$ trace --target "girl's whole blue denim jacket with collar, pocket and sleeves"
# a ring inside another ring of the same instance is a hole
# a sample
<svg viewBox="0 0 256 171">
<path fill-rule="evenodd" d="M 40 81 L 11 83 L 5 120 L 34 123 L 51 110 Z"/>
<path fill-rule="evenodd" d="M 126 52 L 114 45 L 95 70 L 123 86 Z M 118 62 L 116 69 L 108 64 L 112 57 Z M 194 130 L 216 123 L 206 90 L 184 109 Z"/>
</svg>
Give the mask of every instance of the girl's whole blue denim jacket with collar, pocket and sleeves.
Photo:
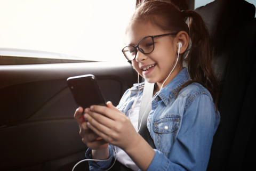
<svg viewBox="0 0 256 171">
<path fill-rule="evenodd" d="M 198 83 L 192 83 L 177 91 L 189 80 L 186 68 L 154 96 L 147 127 L 154 140 L 155 156 L 148 170 L 206 170 L 210 158 L 213 135 L 219 125 L 219 112 L 214 110 L 212 96 Z M 139 96 L 142 95 L 143 85 Z M 117 109 L 126 113 L 138 93 L 138 84 L 128 89 Z M 218 116 L 218 117 L 217 117 Z M 132 137 L 131 137 L 132 138 Z M 91 150 L 86 157 L 90 158 Z M 110 167 L 113 152 L 109 146 L 109 160 L 97 164 L 89 161 L 90 170 L 106 170 Z M 103 168 L 103 169 L 101 169 Z"/>
</svg>

